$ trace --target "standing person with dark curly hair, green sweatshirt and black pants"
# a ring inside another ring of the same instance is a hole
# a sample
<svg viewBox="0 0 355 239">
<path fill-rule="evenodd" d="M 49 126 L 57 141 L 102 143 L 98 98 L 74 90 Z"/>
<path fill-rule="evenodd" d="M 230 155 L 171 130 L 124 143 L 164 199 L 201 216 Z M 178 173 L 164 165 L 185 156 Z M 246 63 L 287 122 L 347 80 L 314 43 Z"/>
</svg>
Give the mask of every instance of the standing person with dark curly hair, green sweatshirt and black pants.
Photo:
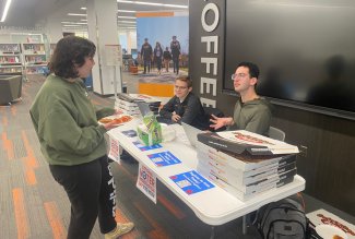
<svg viewBox="0 0 355 239">
<path fill-rule="evenodd" d="M 82 80 L 95 64 L 95 45 L 85 38 L 60 39 L 50 59 L 51 74 L 29 110 L 50 172 L 71 203 L 69 239 L 90 238 L 97 216 L 106 239 L 133 228 L 132 223 L 115 220 L 116 186 L 104 139 L 115 122 L 97 123 L 115 110 L 95 110 Z"/>
</svg>

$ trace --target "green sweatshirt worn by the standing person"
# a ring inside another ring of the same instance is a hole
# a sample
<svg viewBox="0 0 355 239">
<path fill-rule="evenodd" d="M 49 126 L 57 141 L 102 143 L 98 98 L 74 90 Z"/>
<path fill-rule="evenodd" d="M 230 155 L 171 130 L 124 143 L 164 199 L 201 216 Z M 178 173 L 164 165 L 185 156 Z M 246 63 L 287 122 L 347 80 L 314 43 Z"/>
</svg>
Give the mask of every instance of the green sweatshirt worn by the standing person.
<svg viewBox="0 0 355 239">
<path fill-rule="evenodd" d="M 49 75 L 39 89 L 29 115 L 50 165 L 80 165 L 104 156 L 106 129 L 97 119 L 114 109 L 95 110 L 81 79 L 69 82 Z"/>
</svg>

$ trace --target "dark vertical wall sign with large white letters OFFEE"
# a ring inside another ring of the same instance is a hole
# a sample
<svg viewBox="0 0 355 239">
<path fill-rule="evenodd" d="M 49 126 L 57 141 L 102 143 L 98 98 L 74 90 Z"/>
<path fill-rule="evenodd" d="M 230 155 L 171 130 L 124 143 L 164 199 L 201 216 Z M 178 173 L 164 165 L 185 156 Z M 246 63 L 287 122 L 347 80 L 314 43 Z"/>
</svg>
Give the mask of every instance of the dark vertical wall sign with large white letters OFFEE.
<svg viewBox="0 0 355 239">
<path fill-rule="evenodd" d="M 225 0 L 190 1 L 190 76 L 205 106 L 216 107 L 224 77 Z"/>
</svg>

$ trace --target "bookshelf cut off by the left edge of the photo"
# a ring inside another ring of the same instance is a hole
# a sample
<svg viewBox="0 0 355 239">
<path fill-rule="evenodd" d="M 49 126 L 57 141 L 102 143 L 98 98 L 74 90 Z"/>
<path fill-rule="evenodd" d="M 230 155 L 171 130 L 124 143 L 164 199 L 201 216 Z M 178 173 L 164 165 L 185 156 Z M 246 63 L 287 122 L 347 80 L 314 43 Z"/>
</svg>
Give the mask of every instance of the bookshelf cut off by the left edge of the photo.
<svg viewBox="0 0 355 239">
<path fill-rule="evenodd" d="M 22 75 L 20 44 L 0 44 L 0 75 Z"/>
</svg>

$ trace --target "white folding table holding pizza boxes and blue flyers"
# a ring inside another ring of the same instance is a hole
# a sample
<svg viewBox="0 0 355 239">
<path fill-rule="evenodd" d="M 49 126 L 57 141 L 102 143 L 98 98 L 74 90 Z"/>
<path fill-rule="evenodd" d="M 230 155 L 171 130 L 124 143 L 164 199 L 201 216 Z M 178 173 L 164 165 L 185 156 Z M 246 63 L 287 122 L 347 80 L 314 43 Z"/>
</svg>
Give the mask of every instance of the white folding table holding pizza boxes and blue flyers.
<svg viewBox="0 0 355 239">
<path fill-rule="evenodd" d="M 163 182 L 169 190 L 171 190 L 171 192 L 174 192 L 180 200 L 182 200 L 202 222 L 211 226 L 222 225 L 233 219 L 242 217 L 268 203 L 287 198 L 305 189 L 305 179 L 296 175 L 293 182 L 265 191 L 245 202 L 233 196 L 218 186 L 198 193 L 187 194 L 169 178 L 174 175 L 197 169 L 197 151 L 189 144 L 182 127 L 179 124 L 171 126 L 176 130 L 177 136 L 171 142 L 162 143 L 162 148 L 141 152 L 132 143 L 133 141 L 137 141 L 138 138 L 135 138 L 135 140 L 132 140 L 131 138 L 128 138 L 121 133 L 126 130 L 135 130 L 138 123 L 139 119 L 133 119 L 125 126 L 120 126 L 116 129 L 110 130 L 108 132 L 108 135 L 117 140 L 120 146 L 125 148 L 130 155 L 132 155 L 140 164 L 149 167 L 156 175 L 156 178 L 161 182 Z M 147 154 L 163 151 L 171 152 L 181 160 L 181 164 L 157 167 L 146 156 Z"/>
</svg>

